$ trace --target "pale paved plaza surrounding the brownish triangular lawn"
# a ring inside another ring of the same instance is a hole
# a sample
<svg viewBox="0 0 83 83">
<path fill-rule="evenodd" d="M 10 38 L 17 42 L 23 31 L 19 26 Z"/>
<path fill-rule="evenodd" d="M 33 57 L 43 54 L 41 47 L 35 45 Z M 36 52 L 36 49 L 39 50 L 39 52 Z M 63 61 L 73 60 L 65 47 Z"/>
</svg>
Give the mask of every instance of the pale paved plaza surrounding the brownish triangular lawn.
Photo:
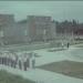
<svg viewBox="0 0 83 83">
<path fill-rule="evenodd" d="M 49 50 L 50 49 L 42 49 L 42 50 L 33 51 L 39 55 L 35 58 L 35 66 L 40 66 L 40 65 L 44 65 L 58 61 L 64 61 L 64 60 L 83 62 L 83 58 L 82 58 L 83 51 L 80 48 L 71 46 L 70 49 L 65 49 L 63 51 L 54 51 L 54 52 L 50 52 Z M 20 53 L 22 54 L 23 52 L 19 52 L 18 54 Z M 62 82 L 83 83 L 82 79 L 75 79 L 75 77 L 58 74 L 38 68 L 35 69 L 30 68 L 28 69 L 28 71 L 23 71 L 23 70 L 13 69 L 11 66 L 6 66 L 1 64 L 0 69 L 6 70 L 12 74 L 21 75 L 31 81 L 35 81 L 37 83 L 62 83 Z"/>
</svg>

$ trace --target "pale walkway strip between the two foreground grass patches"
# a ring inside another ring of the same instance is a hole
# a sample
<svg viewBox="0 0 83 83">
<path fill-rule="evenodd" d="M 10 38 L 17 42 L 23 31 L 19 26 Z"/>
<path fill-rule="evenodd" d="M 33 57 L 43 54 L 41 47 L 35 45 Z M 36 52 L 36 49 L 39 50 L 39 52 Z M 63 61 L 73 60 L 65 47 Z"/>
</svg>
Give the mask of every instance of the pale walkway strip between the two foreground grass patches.
<svg viewBox="0 0 83 83">
<path fill-rule="evenodd" d="M 50 71 L 39 70 L 39 69 L 20 71 L 18 69 L 12 69 L 3 65 L 0 65 L 0 69 L 4 69 L 6 71 L 12 74 L 21 75 L 24 79 L 34 81 L 35 83 L 83 83 L 83 80 L 80 79 L 74 79 L 74 77 L 70 77 Z"/>
</svg>

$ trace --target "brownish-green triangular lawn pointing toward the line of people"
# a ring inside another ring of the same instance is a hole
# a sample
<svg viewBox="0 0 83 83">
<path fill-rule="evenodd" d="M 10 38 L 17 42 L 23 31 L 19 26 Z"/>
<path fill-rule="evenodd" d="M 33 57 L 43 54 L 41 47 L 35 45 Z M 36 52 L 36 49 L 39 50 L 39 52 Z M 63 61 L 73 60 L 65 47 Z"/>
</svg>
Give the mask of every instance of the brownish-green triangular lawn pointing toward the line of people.
<svg viewBox="0 0 83 83">
<path fill-rule="evenodd" d="M 77 79 L 83 79 L 83 62 L 60 61 L 38 68 Z"/>
</svg>

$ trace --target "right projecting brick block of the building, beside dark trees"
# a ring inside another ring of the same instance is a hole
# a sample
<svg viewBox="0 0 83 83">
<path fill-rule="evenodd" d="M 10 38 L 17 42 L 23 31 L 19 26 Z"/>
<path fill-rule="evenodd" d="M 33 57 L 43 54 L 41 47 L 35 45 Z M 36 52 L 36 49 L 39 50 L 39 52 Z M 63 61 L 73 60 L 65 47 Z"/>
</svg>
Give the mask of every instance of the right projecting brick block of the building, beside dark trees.
<svg viewBox="0 0 83 83">
<path fill-rule="evenodd" d="M 52 24 L 51 17 L 28 17 L 29 38 L 33 41 L 43 41 L 52 39 L 52 29 L 55 28 Z"/>
</svg>

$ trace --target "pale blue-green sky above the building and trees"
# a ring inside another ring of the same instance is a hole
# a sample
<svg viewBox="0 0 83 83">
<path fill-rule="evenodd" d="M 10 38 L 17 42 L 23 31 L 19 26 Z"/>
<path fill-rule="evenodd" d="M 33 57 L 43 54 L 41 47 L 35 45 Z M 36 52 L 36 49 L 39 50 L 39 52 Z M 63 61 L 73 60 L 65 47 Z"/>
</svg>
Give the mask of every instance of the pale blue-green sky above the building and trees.
<svg viewBox="0 0 83 83">
<path fill-rule="evenodd" d="M 83 22 L 83 1 L 0 1 L 0 13 L 12 13 L 15 20 L 27 15 L 50 15 L 54 20 Z"/>
</svg>

